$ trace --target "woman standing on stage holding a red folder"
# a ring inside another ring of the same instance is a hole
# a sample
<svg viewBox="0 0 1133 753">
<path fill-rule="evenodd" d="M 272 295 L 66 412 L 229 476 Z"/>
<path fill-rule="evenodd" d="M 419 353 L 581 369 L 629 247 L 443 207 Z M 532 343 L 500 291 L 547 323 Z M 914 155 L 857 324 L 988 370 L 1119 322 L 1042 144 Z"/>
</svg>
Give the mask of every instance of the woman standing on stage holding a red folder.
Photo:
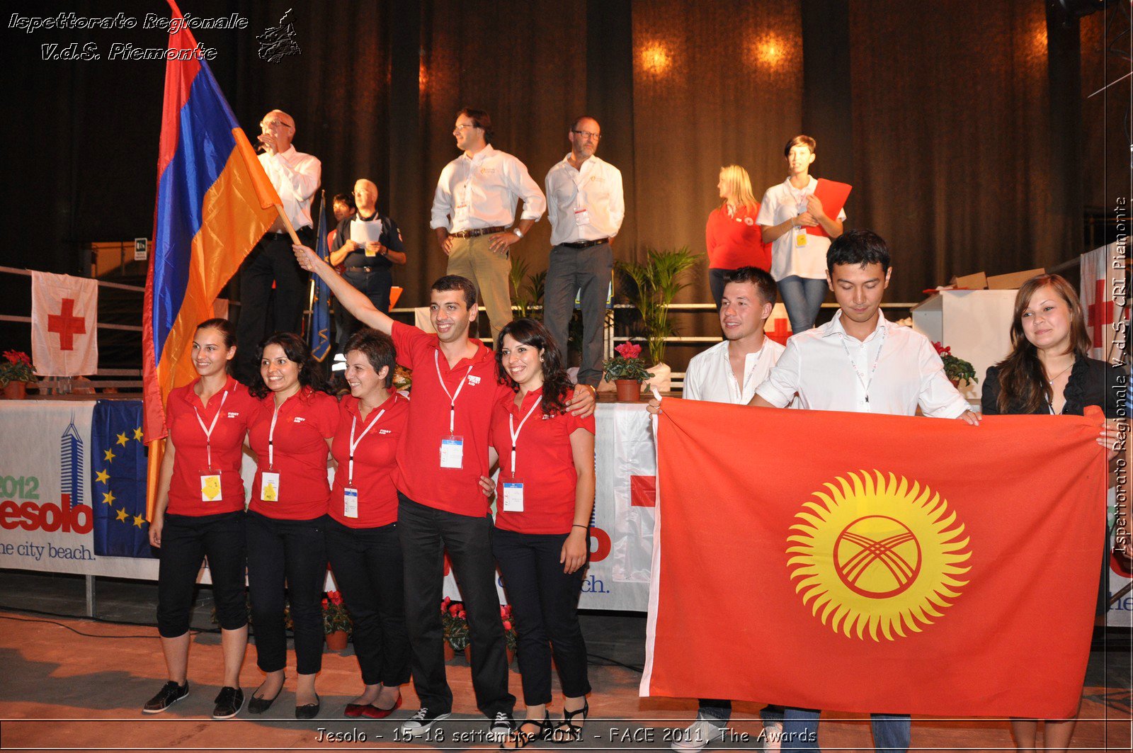
<svg viewBox="0 0 1133 753">
<path fill-rule="evenodd" d="M 826 297 L 826 249 L 832 238 L 842 235 L 846 219 L 841 206 L 837 217 L 828 217 L 816 195 L 818 180 L 810 176 L 815 147 L 815 139 L 804 135 L 786 143 L 787 178 L 767 189 L 756 217 L 764 242 L 772 243 L 769 271 L 778 284 L 791 331 L 796 333 L 815 325 Z M 808 228 L 821 228 L 825 235 L 808 232 Z"/>
</svg>

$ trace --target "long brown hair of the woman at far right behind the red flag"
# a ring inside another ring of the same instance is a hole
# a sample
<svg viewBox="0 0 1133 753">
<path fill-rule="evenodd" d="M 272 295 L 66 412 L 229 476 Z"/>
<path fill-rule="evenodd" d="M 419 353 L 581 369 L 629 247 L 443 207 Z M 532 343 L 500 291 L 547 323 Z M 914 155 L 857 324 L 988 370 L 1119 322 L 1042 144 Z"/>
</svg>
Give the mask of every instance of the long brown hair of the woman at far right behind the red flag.
<svg viewBox="0 0 1133 753">
<path fill-rule="evenodd" d="M 1039 274 L 1032 277 L 1019 288 L 1015 296 L 1015 312 L 1011 320 L 1011 354 L 999 362 L 999 413 L 1022 411 L 1034 413 L 1050 403 L 1054 395 L 1050 382 L 1042 371 L 1038 348 L 1026 339 L 1023 331 L 1023 312 L 1042 287 L 1055 289 L 1070 307 L 1070 352 L 1075 362 L 1087 357 L 1090 352 L 1090 333 L 1085 329 L 1085 318 L 1082 315 L 1082 304 L 1073 286 L 1058 274 Z"/>
</svg>

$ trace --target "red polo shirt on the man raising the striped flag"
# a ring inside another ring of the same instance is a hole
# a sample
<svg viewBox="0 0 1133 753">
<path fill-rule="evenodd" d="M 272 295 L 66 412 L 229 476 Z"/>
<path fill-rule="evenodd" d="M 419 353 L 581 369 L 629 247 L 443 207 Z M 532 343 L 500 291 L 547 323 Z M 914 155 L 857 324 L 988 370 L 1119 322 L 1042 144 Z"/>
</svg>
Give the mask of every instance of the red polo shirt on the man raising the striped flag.
<svg viewBox="0 0 1133 753">
<path fill-rule="evenodd" d="M 476 355 L 449 369 L 436 335 L 401 322 L 393 323 L 391 335 L 398 363 L 414 370 L 414 399 L 409 401 L 404 439 L 398 446 L 394 484 L 426 507 L 476 517 L 487 515 L 488 499 L 480 490 L 479 477 L 488 475 L 488 422 L 501 390 L 511 394 L 496 381 L 495 355 L 475 340 Z M 455 396 L 457 406 L 452 430 L 449 395 Z M 460 468 L 441 467 L 441 440 L 450 434 L 463 439 Z"/>
</svg>

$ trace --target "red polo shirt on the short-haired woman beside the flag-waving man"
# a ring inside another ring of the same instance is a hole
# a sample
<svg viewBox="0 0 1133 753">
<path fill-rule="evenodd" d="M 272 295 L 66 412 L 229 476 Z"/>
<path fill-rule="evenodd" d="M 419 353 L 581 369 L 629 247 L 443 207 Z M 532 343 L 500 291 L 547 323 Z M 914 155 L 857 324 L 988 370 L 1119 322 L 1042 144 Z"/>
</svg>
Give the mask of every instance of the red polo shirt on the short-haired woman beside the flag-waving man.
<svg viewBox="0 0 1133 753">
<path fill-rule="evenodd" d="M 394 392 L 365 418 L 358 413 L 358 398 L 350 395 L 339 403 L 339 426 L 331 443 L 331 455 L 339 464 L 331 489 L 331 517 L 351 528 L 376 528 L 398 519 L 398 490 L 393 485 L 393 473 L 398 467 L 398 443 L 409 417 L 409 400 Z M 352 482 L 351 425 L 357 442 Z M 358 492 L 358 517 L 346 515 L 342 492 L 348 484 Z"/>
</svg>

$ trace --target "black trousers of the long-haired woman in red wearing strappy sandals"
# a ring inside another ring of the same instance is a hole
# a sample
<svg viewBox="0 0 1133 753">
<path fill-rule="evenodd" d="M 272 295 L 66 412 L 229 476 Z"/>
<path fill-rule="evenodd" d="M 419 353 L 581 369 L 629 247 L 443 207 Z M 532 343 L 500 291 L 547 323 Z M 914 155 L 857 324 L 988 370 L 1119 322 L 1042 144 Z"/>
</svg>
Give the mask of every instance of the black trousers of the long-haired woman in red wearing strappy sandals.
<svg viewBox="0 0 1133 753">
<path fill-rule="evenodd" d="M 551 702 L 551 655 L 563 695 L 590 692 L 586 642 L 578 624 L 578 598 L 585 567 L 563 573 L 559 561 L 566 534 L 517 533 L 496 528 L 492 549 L 500 562 L 516 632 L 517 658 L 523 676 L 523 702 Z"/>
</svg>

